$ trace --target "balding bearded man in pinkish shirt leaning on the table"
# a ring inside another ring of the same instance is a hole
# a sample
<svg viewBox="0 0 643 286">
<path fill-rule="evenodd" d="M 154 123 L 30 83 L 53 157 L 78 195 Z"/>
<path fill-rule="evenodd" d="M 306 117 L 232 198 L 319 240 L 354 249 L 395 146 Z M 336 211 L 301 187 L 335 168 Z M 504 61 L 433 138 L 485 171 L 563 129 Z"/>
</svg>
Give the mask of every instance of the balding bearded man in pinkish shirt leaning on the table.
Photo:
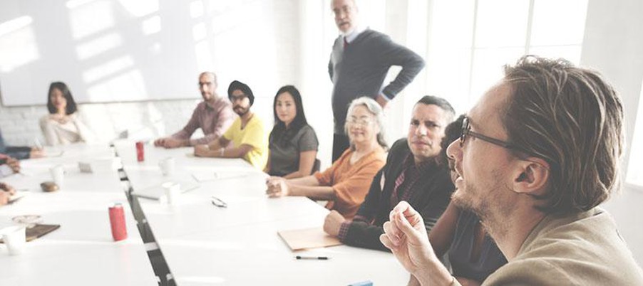
<svg viewBox="0 0 643 286">
<path fill-rule="evenodd" d="M 203 72 L 199 75 L 199 90 L 203 101 L 192 112 L 192 117 L 187 125 L 170 137 L 160 138 L 154 142 L 155 146 L 177 148 L 207 144 L 221 137 L 235 120 L 230 101 L 220 97 L 217 93 L 217 75 Z M 190 139 L 192 134 L 201 128 L 205 137 Z"/>
</svg>

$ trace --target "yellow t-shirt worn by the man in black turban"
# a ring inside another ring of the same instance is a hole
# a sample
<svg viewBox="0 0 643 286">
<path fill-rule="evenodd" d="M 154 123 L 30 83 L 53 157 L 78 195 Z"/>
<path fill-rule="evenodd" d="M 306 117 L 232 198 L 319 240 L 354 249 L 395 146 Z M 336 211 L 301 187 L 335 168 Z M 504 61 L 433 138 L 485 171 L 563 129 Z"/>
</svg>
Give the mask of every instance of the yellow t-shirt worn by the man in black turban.
<svg viewBox="0 0 643 286">
<path fill-rule="evenodd" d="M 252 146 L 252 150 L 247 152 L 242 159 L 259 170 L 264 169 L 268 161 L 268 139 L 266 132 L 264 132 L 264 123 L 258 115 L 253 115 L 244 129 L 241 129 L 241 117 L 237 117 L 223 137 L 232 141 L 232 146 L 235 148 L 242 144 Z"/>
</svg>

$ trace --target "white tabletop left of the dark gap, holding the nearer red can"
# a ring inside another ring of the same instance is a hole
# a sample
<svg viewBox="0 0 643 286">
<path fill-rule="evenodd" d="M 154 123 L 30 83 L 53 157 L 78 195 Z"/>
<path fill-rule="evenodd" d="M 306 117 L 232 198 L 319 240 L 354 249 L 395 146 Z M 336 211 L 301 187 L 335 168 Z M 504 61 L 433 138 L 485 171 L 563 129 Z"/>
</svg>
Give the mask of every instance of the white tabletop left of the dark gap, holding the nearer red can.
<svg viewBox="0 0 643 286">
<path fill-rule="evenodd" d="M 79 161 L 114 160 L 113 149 L 73 144 L 46 152 L 49 157 L 21 161 L 23 174 L 1 179 L 27 194 L 0 208 L 0 228 L 25 215 L 60 228 L 26 243 L 21 255 L 9 255 L 0 244 L 0 285 L 158 285 L 117 171 L 98 164 L 93 173 L 78 168 Z M 58 191 L 43 192 L 40 184 L 52 180 L 49 169 L 56 165 L 66 171 L 64 183 Z M 110 232 L 113 203 L 123 205 L 128 231 L 118 242 Z"/>
</svg>

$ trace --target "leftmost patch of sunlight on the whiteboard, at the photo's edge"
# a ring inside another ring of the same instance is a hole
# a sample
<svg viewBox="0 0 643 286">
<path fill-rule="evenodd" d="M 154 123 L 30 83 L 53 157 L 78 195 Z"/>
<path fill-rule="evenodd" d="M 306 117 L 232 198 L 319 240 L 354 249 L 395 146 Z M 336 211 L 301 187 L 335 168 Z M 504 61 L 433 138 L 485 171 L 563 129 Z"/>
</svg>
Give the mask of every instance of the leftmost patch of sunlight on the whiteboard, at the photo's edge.
<svg viewBox="0 0 643 286">
<path fill-rule="evenodd" d="M 31 16 L 21 16 L 0 23 L 0 72 L 11 70 L 38 60 L 38 46 Z"/>
</svg>

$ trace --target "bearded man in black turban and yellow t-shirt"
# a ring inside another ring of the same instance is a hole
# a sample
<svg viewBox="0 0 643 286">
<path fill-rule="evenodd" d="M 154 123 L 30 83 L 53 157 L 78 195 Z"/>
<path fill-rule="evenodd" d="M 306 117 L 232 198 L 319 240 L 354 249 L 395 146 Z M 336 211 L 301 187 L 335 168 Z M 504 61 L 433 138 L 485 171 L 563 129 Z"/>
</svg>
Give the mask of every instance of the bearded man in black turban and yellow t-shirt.
<svg viewBox="0 0 643 286">
<path fill-rule="evenodd" d="M 219 139 L 195 146 L 194 154 L 198 157 L 242 158 L 263 170 L 268 160 L 268 144 L 262 120 L 250 111 L 254 103 L 252 90 L 235 80 L 230 83 L 227 95 L 239 118 Z M 232 147 L 228 147 L 230 142 Z"/>
</svg>

